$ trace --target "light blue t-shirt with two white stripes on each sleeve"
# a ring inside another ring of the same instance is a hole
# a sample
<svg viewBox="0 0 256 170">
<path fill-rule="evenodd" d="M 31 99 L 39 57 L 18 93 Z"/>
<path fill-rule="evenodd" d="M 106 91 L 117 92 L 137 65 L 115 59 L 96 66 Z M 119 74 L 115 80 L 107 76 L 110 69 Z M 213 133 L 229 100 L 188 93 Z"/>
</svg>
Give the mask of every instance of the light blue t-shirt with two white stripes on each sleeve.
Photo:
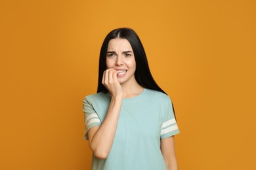
<svg viewBox="0 0 256 170">
<path fill-rule="evenodd" d="M 111 96 L 100 92 L 83 100 L 85 139 L 87 131 L 104 121 Z M 166 169 L 160 139 L 179 133 L 171 99 L 164 93 L 144 89 L 123 99 L 114 143 L 106 159 L 93 155 L 93 170 Z"/>
</svg>

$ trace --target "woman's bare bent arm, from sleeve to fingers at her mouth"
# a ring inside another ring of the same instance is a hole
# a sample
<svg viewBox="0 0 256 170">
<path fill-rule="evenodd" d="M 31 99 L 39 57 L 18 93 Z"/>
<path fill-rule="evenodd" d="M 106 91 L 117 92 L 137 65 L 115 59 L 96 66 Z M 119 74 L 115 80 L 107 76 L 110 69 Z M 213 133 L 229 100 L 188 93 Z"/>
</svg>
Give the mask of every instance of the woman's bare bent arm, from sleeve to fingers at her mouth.
<svg viewBox="0 0 256 170">
<path fill-rule="evenodd" d="M 118 71 L 108 69 L 104 71 L 102 84 L 112 93 L 112 99 L 106 117 L 101 126 L 91 127 L 88 131 L 89 145 L 96 157 L 105 159 L 110 152 L 116 135 L 117 122 L 123 100 L 123 91 L 117 80 Z"/>
</svg>

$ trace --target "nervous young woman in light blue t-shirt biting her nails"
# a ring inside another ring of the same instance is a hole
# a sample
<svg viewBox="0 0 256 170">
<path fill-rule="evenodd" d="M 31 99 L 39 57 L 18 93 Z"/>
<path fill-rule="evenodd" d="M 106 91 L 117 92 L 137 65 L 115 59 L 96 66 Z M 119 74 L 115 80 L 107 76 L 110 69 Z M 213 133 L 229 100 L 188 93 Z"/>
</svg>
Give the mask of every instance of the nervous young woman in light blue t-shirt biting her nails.
<svg viewBox="0 0 256 170">
<path fill-rule="evenodd" d="M 85 97 L 83 111 L 92 169 L 178 169 L 173 105 L 154 81 L 133 29 L 114 29 L 106 36 L 98 93 Z"/>
</svg>

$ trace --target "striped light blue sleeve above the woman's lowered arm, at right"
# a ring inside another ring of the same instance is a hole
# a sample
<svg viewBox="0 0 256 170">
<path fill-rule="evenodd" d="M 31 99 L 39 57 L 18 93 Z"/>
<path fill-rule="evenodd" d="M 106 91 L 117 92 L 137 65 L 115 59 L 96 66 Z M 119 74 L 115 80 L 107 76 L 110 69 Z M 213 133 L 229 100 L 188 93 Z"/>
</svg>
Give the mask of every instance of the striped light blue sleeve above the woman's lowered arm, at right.
<svg viewBox="0 0 256 170">
<path fill-rule="evenodd" d="M 165 106 L 165 111 L 162 116 L 162 126 L 161 126 L 161 139 L 171 137 L 173 135 L 177 135 L 180 133 L 179 127 L 177 125 L 173 105 L 171 103 L 171 99 L 168 97 L 167 103 Z"/>
</svg>

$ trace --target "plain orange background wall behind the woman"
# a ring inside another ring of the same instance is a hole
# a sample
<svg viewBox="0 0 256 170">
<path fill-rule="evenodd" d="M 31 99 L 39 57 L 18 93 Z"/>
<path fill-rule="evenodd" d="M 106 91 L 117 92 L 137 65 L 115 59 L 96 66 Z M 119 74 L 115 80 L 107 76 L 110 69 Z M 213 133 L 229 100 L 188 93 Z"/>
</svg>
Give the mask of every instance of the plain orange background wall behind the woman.
<svg viewBox="0 0 256 170">
<path fill-rule="evenodd" d="M 1 1 L 0 169 L 89 169 L 82 100 L 131 27 L 175 105 L 179 168 L 256 169 L 255 1 Z"/>
</svg>

